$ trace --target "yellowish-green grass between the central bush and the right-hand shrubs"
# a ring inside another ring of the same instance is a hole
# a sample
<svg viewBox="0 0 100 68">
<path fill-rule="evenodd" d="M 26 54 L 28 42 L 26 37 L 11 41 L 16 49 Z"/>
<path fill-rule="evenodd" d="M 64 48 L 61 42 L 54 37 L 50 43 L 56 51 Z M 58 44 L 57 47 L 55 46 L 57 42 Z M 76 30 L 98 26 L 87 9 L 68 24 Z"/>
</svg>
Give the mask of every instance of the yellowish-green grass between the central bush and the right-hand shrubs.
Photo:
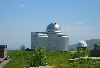
<svg viewBox="0 0 100 68">
<path fill-rule="evenodd" d="M 68 52 L 48 52 L 47 62 L 52 66 L 66 65 L 69 54 Z"/>
</svg>

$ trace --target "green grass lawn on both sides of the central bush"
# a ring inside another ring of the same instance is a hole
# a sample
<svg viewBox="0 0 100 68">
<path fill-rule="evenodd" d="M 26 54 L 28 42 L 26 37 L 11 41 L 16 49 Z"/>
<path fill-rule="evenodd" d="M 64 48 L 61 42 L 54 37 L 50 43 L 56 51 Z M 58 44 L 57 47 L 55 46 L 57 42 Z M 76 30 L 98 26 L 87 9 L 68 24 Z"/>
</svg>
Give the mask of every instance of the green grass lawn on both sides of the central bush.
<svg viewBox="0 0 100 68">
<path fill-rule="evenodd" d="M 4 68 L 27 68 L 27 61 L 34 55 L 34 51 L 9 50 L 8 55 L 11 61 Z M 65 65 L 68 55 L 67 52 L 46 52 L 46 61 L 52 66 Z"/>
</svg>

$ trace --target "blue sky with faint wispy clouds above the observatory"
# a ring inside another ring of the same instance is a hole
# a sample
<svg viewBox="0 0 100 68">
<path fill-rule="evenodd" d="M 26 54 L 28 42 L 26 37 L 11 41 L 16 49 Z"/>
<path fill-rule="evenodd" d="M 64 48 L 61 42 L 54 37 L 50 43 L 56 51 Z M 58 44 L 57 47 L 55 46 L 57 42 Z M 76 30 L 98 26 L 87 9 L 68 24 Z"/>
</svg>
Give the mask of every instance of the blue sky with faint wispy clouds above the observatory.
<svg viewBox="0 0 100 68">
<path fill-rule="evenodd" d="M 58 23 L 69 45 L 100 39 L 100 0 L 0 0 L 0 44 L 31 47 L 31 32 Z"/>
</svg>

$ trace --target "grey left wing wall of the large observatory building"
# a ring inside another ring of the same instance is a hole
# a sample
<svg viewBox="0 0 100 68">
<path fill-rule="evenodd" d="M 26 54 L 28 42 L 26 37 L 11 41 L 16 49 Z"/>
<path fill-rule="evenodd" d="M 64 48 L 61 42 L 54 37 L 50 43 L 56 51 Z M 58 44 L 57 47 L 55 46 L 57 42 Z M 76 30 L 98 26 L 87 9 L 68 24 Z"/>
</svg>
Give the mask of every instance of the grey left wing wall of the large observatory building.
<svg viewBox="0 0 100 68">
<path fill-rule="evenodd" d="M 37 33 L 38 34 L 38 33 Z M 47 49 L 47 39 L 48 36 L 42 36 L 42 35 L 37 35 L 34 33 L 31 33 L 31 49 L 35 50 L 35 48 L 39 47 L 39 46 L 43 46 L 44 49 Z"/>
</svg>

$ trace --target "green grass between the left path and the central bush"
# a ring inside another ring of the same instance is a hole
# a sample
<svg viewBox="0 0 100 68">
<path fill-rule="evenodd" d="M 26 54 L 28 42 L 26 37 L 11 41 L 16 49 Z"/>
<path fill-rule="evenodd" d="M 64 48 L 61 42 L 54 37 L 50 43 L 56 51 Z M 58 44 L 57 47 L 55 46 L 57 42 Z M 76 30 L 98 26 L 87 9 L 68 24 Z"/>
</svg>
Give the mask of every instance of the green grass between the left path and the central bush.
<svg viewBox="0 0 100 68">
<path fill-rule="evenodd" d="M 24 68 L 28 67 L 28 59 L 34 54 L 34 51 L 9 50 L 8 55 L 11 61 L 4 68 Z"/>
</svg>

